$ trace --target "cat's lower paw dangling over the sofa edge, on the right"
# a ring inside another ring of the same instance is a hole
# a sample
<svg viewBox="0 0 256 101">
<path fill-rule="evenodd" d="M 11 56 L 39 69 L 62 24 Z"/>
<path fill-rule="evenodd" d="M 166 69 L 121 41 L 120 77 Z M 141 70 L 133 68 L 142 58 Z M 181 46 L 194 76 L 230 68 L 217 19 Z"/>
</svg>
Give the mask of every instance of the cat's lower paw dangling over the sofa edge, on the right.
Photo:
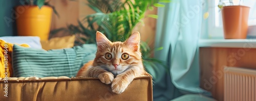
<svg viewBox="0 0 256 101">
<path fill-rule="evenodd" d="M 112 91 L 117 93 L 117 94 L 120 94 L 122 93 L 126 88 L 127 86 L 129 85 L 129 83 L 119 77 L 116 77 L 113 82 L 112 82 Z"/>
</svg>

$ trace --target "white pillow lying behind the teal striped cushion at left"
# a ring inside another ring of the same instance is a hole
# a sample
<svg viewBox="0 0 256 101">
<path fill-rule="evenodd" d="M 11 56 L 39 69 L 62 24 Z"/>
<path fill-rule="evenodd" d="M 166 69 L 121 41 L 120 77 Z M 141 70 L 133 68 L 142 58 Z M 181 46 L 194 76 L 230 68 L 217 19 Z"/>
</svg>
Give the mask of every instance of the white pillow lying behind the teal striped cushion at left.
<svg viewBox="0 0 256 101">
<path fill-rule="evenodd" d="M 32 36 L 5 36 L 0 37 L 7 43 L 12 44 L 28 44 L 31 48 L 42 49 L 40 38 Z"/>
</svg>

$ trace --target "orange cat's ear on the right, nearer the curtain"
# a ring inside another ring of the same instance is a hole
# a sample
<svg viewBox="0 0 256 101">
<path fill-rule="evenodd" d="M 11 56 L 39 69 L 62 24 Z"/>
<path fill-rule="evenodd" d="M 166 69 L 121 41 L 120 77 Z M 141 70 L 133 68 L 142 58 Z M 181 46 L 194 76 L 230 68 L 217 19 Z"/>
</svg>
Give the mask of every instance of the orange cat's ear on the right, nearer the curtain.
<svg viewBox="0 0 256 101">
<path fill-rule="evenodd" d="M 134 32 L 124 43 L 134 51 L 140 51 L 140 33 Z"/>
</svg>

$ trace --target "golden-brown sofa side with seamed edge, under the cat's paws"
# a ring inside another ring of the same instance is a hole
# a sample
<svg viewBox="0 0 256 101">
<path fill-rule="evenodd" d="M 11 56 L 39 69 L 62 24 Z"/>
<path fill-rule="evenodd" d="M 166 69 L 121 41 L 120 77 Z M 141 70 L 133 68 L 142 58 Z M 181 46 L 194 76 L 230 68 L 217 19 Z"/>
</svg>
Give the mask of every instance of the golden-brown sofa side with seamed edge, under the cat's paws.
<svg viewBox="0 0 256 101">
<path fill-rule="evenodd" d="M 97 78 L 13 78 L 0 80 L 0 100 L 153 100 L 152 77 L 137 77 L 121 93 L 111 91 L 111 85 Z M 8 97 L 3 92 L 8 84 Z"/>
</svg>

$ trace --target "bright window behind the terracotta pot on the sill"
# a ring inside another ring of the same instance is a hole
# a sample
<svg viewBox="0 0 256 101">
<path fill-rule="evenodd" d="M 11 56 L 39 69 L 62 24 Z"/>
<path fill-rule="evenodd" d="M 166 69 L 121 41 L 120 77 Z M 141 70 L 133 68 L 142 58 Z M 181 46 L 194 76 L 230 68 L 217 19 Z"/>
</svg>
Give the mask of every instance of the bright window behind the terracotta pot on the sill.
<svg viewBox="0 0 256 101">
<path fill-rule="evenodd" d="M 223 25 L 222 25 L 222 15 L 218 8 L 218 0 L 208 0 L 208 38 L 223 38 Z M 256 26 L 256 0 L 243 0 L 240 3 L 239 0 L 233 0 L 233 5 L 244 5 L 250 7 L 248 25 L 249 28 Z M 255 29 L 255 28 L 252 28 Z M 256 37 L 255 30 L 253 32 L 248 32 L 248 36 Z"/>
</svg>

